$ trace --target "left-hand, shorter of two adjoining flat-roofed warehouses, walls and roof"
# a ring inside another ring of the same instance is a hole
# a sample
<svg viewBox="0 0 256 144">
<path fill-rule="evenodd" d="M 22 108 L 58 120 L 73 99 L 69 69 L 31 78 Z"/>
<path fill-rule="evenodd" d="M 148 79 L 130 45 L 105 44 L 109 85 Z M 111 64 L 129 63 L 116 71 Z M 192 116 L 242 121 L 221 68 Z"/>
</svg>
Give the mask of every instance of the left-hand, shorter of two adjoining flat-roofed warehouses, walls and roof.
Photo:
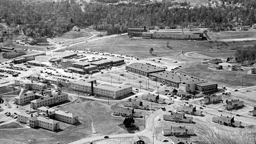
<svg viewBox="0 0 256 144">
<path fill-rule="evenodd" d="M 148 64 L 143 63 L 134 63 L 128 66 L 125 66 L 125 69 L 128 72 L 133 72 L 135 74 L 139 74 L 141 76 L 149 77 L 149 74 L 156 73 L 156 72 L 163 72 L 165 69 L 157 68 L 155 66 L 150 66 Z"/>
</svg>

